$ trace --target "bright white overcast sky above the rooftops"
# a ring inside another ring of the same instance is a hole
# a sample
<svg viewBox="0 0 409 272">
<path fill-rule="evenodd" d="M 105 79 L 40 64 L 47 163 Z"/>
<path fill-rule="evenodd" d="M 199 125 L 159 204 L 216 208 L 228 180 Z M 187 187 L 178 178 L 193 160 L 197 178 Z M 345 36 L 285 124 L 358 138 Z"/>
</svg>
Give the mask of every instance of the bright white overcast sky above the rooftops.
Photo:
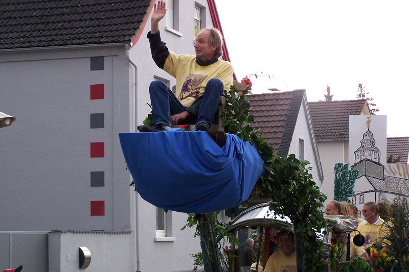
<svg viewBox="0 0 409 272">
<path fill-rule="evenodd" d="M 356 99 L 366 86 L 388 137 L 409 136 L 409 1 L 216 0 L 230 59 L 253 92 L 306 89 Z M 336 121 L 336 120 L 334 120 Z"/>
</svg>

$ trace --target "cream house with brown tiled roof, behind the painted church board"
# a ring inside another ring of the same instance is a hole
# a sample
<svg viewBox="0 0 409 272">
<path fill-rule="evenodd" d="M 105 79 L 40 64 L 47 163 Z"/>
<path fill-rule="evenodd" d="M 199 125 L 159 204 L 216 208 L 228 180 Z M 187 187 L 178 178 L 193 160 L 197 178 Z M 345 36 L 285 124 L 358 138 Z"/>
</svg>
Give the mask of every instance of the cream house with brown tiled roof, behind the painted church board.
<svg viewBox="0 0 409 272">
<path fill-rule="evenodd" d="M 334 199 L 334 165 L 349 163 L 349 115 L 371 114 L 371 111 L 366 100 L 309 102 L 308 105 L 323 163 L 322 192 L 327 195 L 327 203 Z"/>
</svg>

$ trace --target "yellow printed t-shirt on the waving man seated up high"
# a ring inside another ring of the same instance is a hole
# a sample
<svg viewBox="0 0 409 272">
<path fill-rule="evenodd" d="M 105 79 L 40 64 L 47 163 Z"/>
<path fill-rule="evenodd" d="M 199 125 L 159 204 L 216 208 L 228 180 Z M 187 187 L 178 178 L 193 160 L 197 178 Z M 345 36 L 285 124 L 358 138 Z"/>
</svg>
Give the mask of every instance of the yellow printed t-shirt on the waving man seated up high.
<svg viewBox="0 0 409 272">
<path fill-rule="evenodd" d="M 223 82 L 224 89 L 233 85 L 233 67 L 228 61 L 218 60 L 207 66 L 196 63 L 196 56 L 177 55 L 169 51 L 163 69 L 176 79 L 176 98 L 185 107 L 205 92 L 206 84 L 211 79 Z"/>
</svg>

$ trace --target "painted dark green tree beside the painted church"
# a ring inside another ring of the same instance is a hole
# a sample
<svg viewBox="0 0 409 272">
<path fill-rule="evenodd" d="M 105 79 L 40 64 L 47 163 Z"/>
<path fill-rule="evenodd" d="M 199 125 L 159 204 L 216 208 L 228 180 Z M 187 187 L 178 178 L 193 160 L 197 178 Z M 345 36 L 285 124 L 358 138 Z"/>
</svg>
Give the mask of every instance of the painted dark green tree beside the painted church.
<svg viewBox="0 0 409 272">
<path fill-rule="evenodd" d="M 336 163 L 334 171 L 334 200 L 349 202 L 348 197 L 354 194 L 355 180 L 359 175 L 359 171 L 356 169 L 351 171 L 349 163 Z"/>
</svg>

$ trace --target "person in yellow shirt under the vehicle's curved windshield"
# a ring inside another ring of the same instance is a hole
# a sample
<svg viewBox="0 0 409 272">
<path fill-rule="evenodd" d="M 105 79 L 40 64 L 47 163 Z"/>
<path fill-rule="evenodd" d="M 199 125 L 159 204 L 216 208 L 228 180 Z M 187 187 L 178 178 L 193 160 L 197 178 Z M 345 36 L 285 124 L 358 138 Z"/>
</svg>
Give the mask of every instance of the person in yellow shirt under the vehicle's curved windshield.
<svg viewBox="0 0 409 272">
<path fill-rule="evenodd" d="M 268 258 L 264 272 L 297 272 L 294 234 L 281 230 L 277 234 L 278 250 Z"/>
</svg>

